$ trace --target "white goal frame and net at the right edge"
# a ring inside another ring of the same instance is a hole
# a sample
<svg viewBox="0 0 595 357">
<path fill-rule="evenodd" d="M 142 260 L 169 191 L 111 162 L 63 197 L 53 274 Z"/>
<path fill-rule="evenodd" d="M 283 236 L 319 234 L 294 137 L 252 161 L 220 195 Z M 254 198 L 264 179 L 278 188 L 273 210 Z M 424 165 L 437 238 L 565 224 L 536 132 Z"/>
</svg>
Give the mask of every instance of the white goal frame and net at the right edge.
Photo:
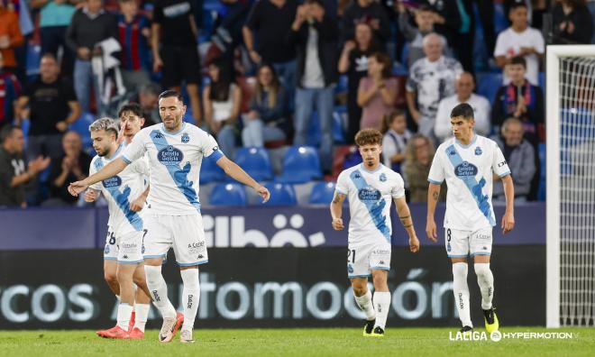
<svg viewBox="0 0 595 357">
<path fill-rule="evenodd" d="M 548 46 L 546 325 L 595 325 L 595 46 Z"/>
</svg>

